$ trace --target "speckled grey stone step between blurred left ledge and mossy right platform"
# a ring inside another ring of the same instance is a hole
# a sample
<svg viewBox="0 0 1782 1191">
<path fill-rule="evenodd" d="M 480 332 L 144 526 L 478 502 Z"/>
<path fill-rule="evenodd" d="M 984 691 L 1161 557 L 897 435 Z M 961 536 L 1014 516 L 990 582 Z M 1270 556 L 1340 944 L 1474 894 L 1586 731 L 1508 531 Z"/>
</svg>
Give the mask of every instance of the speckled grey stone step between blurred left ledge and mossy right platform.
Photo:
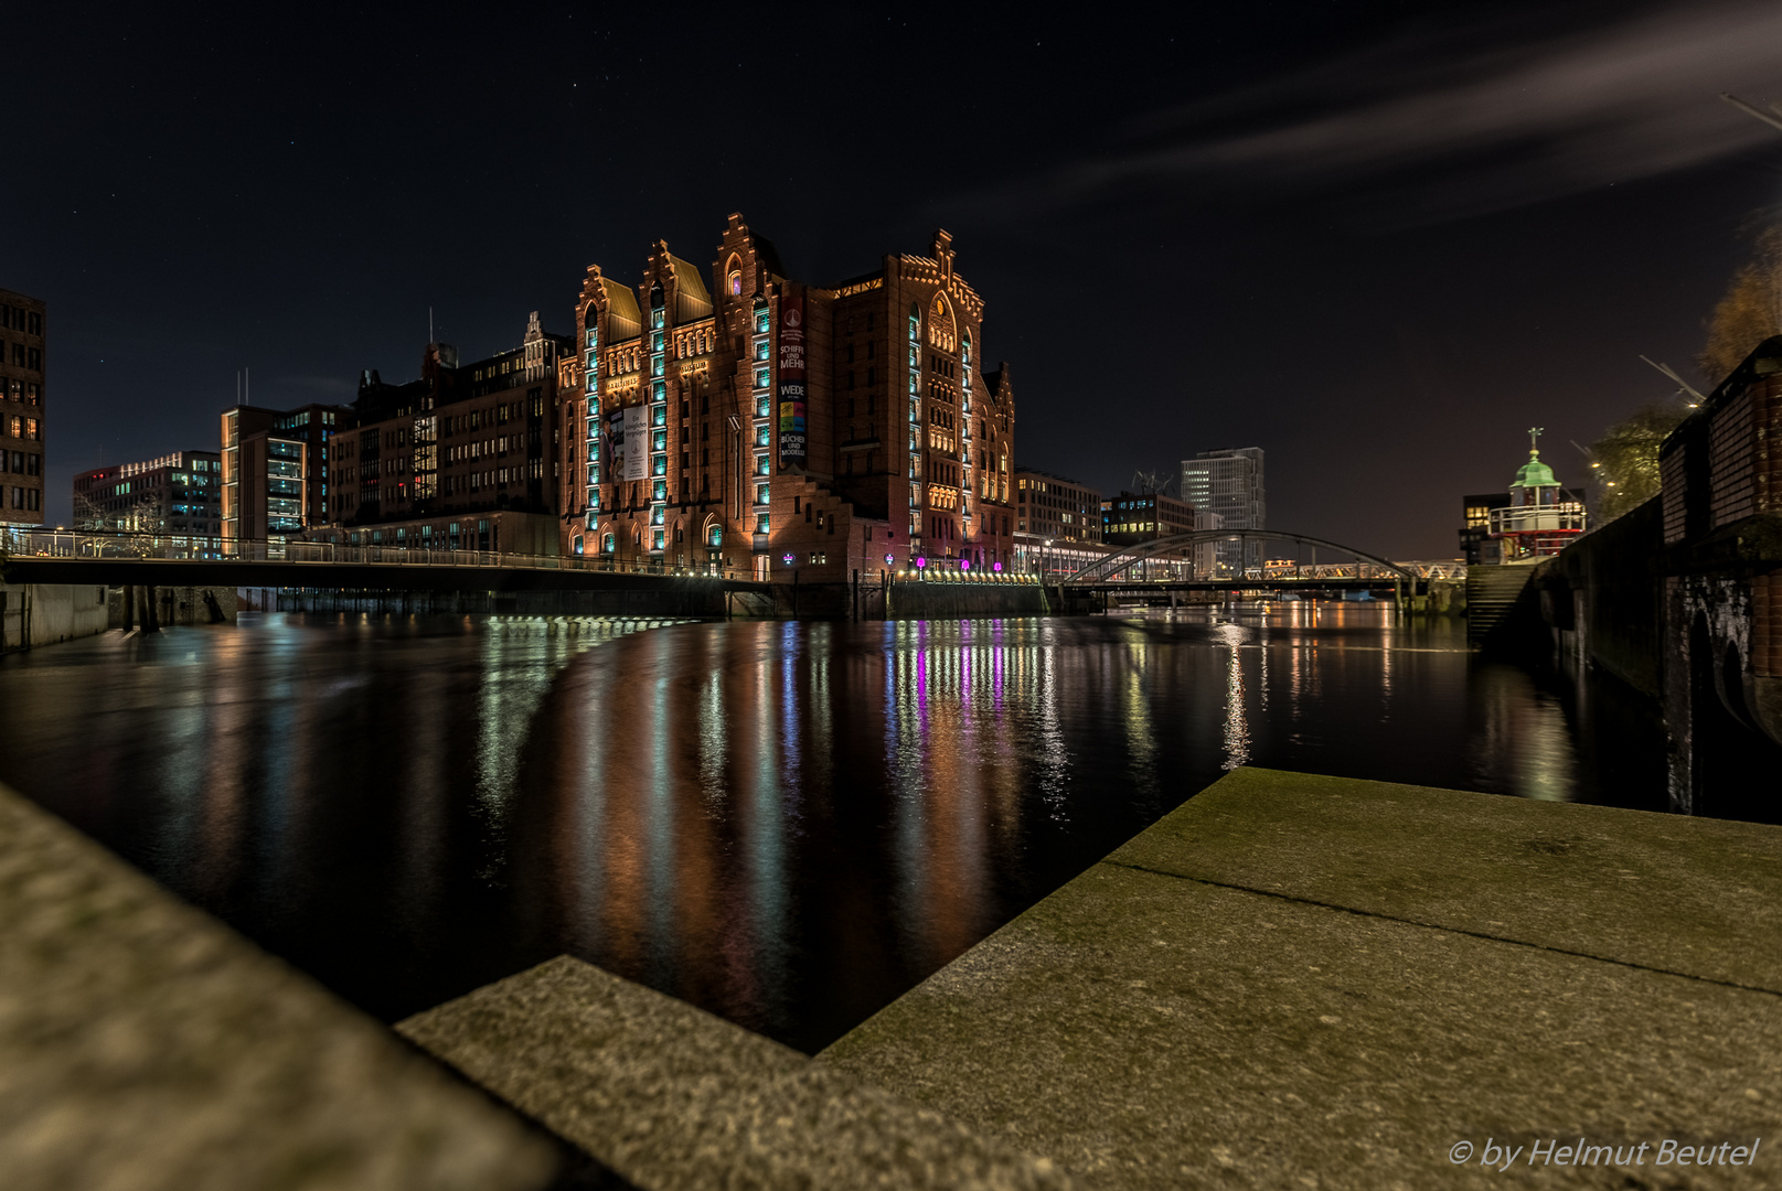
<svg viewBox="0 0 1782 1191">
<path fill-rule="evenodd" d="M 396 1029 L 649 1191 L 1069 1186 L 1046 1159 L 570 956 Z"/>
</svg>

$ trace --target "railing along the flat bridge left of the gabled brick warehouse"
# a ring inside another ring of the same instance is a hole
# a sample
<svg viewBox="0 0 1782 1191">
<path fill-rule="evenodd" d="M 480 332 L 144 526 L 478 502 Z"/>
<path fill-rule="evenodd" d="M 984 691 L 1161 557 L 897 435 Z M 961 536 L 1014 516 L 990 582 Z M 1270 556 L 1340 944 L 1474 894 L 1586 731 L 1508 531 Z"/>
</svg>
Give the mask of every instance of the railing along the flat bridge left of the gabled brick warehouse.
<svg viewBox="0 0 1782 1191">
<path fill-rule="evenodd" d="M 176 563 L 296 563 L 339 566 L 458 566 L 542 571 L 599 571 L 613 575 L 681 575 L 688 579 L 752 579 L 716 563 L 615 559 L 599 554 L 520 554 L 513 550 L 453 550 L 451 547 L 280 541 L 196 534 L 119 534 L 75 529 L 0 531 L 0 545 L 16 559 L 157 559 Z M 301 584 L 294 584 L 301 586 Z"/>
</svg>

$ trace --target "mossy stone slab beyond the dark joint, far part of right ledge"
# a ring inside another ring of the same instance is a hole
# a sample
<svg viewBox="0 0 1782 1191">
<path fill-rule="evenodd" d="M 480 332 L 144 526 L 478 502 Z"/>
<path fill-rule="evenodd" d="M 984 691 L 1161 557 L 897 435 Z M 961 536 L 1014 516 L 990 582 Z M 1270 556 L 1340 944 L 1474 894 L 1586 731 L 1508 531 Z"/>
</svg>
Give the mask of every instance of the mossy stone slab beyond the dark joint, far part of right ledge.
<svg viewBox="0 0 1782 1191">
<path fill-rule="evenodd" d="M 1108 863 L 1782 992 L 1782 828 L 1235 769 Z"/>
</svg>

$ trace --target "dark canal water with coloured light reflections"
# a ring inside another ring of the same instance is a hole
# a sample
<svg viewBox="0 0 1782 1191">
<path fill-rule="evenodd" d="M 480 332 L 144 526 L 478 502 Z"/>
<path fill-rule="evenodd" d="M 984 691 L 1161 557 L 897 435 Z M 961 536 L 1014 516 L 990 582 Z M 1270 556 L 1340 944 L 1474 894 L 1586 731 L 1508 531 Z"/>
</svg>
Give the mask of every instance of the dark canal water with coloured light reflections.
<svg viewBox="0 0 1782 1191">
<path fill-rule="evenodd" d="M 1463 634 L 244 614 L 0 659 L 0 780 L 387 1020 L 572 952 L 816 1050 L 1233 766 L 1663 808 Z"/>
</svg>

